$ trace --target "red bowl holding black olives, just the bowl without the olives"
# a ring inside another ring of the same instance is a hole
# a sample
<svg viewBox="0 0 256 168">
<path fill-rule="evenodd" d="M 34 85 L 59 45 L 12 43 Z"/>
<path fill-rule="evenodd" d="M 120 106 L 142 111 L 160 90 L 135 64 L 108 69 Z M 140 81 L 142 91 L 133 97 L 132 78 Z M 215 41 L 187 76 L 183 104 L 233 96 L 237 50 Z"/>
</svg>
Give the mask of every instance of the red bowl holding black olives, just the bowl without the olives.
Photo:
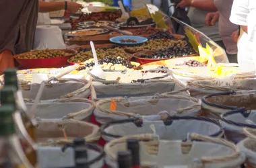
<svg viewBox="0 0 256 168">
<path fill-rule="evenodd" d="M 146 54 L 146 55 L 151 55 L 154 51 L 141 51 L 141 52 L 136 52 L 135 54 L 133 54 L 133 57 L 135 58 L 136 62 L 139 62 L 140 65 L 145 65 L 148 64 L 150 62 L 156 62 L 159 60 L 169 60 L 169 59 L 173 59 L 173 58 L 141 58 L 140 56 L 142 54 Z M 184 57 L 188 57 L 188 56 L 196 56 L 197 54 L 191 54 L 191 55 L 187 55 L 187 56 L 176 56 L 176 58 L 184 58 Z"/>
</svg>

